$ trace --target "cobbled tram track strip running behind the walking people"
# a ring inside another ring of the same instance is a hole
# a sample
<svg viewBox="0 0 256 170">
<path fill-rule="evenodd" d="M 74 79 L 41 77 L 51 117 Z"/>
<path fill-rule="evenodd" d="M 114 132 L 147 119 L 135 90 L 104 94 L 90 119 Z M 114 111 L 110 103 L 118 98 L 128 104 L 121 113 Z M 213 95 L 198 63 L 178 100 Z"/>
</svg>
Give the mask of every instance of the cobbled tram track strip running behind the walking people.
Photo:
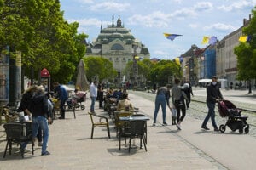
<svg viewBox="0 0 256 170">
<path fill-rule="evenodd" d="M 193 102 L 196 101 L 206 101 L 206 89 L 205 88 L 194 88 L 194 96 L 191 97 L 192 102 L 189 105 L 189 116 L 195 119 L 203 120 L 207 114 L 207 105 L 205 103 Z M 155 94 L 148 93 L 147 91 L 131 91 L 132 94 L 137 94 L 145 99 L 154 101 Z M 247 94 L 246 90 L 222 90 L 224 99 L 230 100 L 236 107 L 247 109 L 250 111 L 256 111 L 256 94 Z M 216 122 L 218 125 L 224 124 L 227 118 L 220 117 L 218 115 L 218 108 L 216 107 Z M 249 135 L 256 138 L 256 113 L 242 111 L 242 115 L 248 116 L 247 123 L 250 124 Z"/>
</svg>

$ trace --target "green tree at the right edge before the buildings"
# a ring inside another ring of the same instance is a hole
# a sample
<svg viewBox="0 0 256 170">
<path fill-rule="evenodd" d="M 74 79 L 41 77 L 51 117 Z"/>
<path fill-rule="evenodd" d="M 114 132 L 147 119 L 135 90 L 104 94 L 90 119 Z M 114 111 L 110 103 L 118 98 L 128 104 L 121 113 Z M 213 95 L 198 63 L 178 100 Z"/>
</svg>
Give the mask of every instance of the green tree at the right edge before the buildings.
<svg viewBox="0 0 256 170">
<path fill-rule="evenodd" d="M 256 78 L 256 7 L 252 10 L 253 17 L 248 26 L 242 29 L 244 35 L 252 37 L 249 42 L 240 42 L 234 48 L 237 55 L 237 79 L 248 82 L 249 91 L 252 93 L 251 80 Z"/>
</svg>

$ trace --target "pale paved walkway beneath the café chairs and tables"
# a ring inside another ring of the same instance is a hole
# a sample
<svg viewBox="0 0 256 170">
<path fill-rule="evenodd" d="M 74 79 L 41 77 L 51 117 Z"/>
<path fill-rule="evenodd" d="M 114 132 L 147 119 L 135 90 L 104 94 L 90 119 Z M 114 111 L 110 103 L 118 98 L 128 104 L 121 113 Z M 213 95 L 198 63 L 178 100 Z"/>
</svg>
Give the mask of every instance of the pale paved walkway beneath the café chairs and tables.
<svg viewBox="0 0 256 170">
<path fill-rule="evenodd" d="M 0 143 L 0 169 L 255 169 L 255 138 L 237 133 L 213 133 L 200 129 L 201 120 L 187 116 L 183 130 L 174 126 L 152 127 L 154 102 L 129 94 L 129 98 L 140 111 L 151 117 L 148 121 L 148 152 L 134 149 L 131 153 L 115 137 L 111 124 L 111 139 L 105 129 L 96 128 L 95 138 L 90 139 L 90 117 L 86 109 L 77 111 L 77 118 L 67 113 L 67 119 L 55 120 L 50 126 L 50 156 L 40 156 L 37 147 L 35 155 L 26 153 L 7 155 L 3 159 L 5 142 Z M 96 105 L 97 106 L 97 105 Z M 102 110 L 96 110 L 103 113 Z M 158 116 L 161 121 L 161 112 Z M 171 122 L 171 116 L 167 116 Z M 111 122 L 111 121 L 110 121 Z M 3 134 L 3 127 L 0 128 Z M 1 136 L 1 135 L 0 135 Z"/>
</svg>

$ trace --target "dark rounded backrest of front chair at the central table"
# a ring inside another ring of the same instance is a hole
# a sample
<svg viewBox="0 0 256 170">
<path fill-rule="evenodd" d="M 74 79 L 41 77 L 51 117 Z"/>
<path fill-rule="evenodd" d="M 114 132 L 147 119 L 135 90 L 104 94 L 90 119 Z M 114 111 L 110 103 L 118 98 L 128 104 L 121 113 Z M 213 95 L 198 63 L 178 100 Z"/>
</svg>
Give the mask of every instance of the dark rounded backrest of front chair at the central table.
<svg viewBox="0 0 256 170">
<path fill-rule="evenodd" d="M 133 136 L 142 135 L 145 133 L 146 121 L 137 120 L 125 122 L 125 133 L 131 133 Z"/>
</svg>

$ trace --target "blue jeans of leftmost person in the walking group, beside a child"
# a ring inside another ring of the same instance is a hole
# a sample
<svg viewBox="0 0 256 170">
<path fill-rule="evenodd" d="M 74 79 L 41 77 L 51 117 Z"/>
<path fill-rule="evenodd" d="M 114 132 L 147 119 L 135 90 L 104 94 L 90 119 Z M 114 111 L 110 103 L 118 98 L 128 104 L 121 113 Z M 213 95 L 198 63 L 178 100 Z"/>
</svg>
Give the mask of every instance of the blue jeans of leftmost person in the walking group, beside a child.
<svg viewBox="0 0 256 170">
<path fill-rule="evenodd" d="M 165 94 L 159 94 L 155 97 L 154 123 L 156 122 L 156 117 L 157 117 L 160 105 L 161 105 L 162 112 L 163 112 L 163 122 L 166 122 L 166 96 L 165 96 Z"/>
</svg>

